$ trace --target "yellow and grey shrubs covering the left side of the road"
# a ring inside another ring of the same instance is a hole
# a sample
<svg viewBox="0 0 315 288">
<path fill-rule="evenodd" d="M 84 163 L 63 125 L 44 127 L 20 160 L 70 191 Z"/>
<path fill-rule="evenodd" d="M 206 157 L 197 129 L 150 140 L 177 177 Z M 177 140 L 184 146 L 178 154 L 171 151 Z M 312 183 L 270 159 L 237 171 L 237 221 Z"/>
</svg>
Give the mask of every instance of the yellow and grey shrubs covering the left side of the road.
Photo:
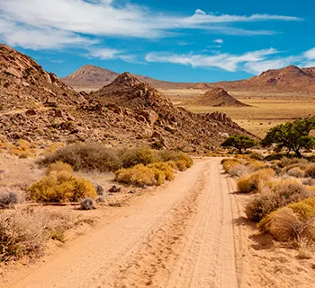
<svg viewBox="0 0 315 288">
<path fill-rule="evenodd" d="M 125 184 L 126 188 L 131 185 L 142 190 L 171 181 L 177 171 L 187 170 L 193 165 L 192 159 L 184 153 L 149 148 L 52 144 L 49 147 L 43 145 L 42 149 L 44 153 L 36 153 L 40 155 L 36 161 L 40 167 L 37 181 L 23 191 L 0 190 L 0 264 L 38 257 L 49 240 L 65 242 L 67 230 L 85 222 L 85 218 L 81 219 L 71 211 L 93 210 L 96 202 L 105 201 L 103 187 L 82 175 L 111 175 L 108 172 L 112 173 L 113 181 Z M 34 145 L 25 141 L 1 143 L 0 150 L 19 158 L 35 156 Z M 0 177 L 3 177 L 1 173 Z M 116 196 L 121 191 L 115 186 L 111 189 Z M 50 211 L 46 206 L 69 204 L 75 204 L 74 208 Z"/>
</svg>

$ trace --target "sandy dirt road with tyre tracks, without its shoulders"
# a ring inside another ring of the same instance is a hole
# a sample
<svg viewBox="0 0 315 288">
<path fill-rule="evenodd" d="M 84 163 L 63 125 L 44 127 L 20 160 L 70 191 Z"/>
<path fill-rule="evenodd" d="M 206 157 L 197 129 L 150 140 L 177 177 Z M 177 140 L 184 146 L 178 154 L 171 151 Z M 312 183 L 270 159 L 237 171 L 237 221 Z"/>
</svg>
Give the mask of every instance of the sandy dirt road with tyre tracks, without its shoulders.
<svg viewBox="0 0 315 288">
<path fill-rule="evenodd" d="M 237 288 L 236 211 L 220 160 L 197 161 L 166 188 L 1 287 Z"/>
</svg>

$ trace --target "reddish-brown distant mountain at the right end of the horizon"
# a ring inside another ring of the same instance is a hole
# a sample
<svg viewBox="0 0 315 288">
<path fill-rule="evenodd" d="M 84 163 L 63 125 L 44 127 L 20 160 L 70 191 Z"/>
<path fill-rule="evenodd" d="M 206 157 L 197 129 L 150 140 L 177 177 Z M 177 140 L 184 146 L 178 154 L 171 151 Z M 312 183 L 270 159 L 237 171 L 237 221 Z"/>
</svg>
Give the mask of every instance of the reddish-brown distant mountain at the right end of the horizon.
<svg viewBox="0 0 315 288">
<path fill-rule="evenodd" d="M 315 67 L 289 65 L 283 69 L 267 70 L 247 80 L 211 84 L 218 85 L 226 90 L 315 93 Z"/>
</svg>

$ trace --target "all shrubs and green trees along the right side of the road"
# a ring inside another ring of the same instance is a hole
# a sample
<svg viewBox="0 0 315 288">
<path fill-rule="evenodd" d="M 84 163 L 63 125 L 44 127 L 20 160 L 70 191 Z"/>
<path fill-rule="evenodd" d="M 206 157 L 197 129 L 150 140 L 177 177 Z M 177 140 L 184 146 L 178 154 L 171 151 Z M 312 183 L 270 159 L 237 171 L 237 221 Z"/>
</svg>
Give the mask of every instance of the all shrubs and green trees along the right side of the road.
<svg viewBox="0 0 315 288">
<path fill-rule="evenodd" d="M 276 126 L 261 142 L 274 153 L 238 154 L 221 161 L 237 179 L 238 192 L 249 197 L 247 218 L 275 240 L 293 243 L 301 257 L 310 257 L 315 246 L 314 129 L 315 117 Z M 229 137 L 222 145 L 242 152 L 238 137 Z"/>
</svg>

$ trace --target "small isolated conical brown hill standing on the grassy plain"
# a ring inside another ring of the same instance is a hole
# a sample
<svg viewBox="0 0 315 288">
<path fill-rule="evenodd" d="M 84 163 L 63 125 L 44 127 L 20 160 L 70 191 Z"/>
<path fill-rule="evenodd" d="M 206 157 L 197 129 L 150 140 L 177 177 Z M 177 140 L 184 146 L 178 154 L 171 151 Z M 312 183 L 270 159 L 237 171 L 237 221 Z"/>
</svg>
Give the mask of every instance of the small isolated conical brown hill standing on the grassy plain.
<svg viewBox="0 0 315 288">
<path fill-rule="evenodd" d="M 212 107 L 245 107 L 248 106 L 229 95 L 222 88 L 213 88 L 202 95 L 190 100 L 192 106 L 212 106 Z"/>
</svg>

